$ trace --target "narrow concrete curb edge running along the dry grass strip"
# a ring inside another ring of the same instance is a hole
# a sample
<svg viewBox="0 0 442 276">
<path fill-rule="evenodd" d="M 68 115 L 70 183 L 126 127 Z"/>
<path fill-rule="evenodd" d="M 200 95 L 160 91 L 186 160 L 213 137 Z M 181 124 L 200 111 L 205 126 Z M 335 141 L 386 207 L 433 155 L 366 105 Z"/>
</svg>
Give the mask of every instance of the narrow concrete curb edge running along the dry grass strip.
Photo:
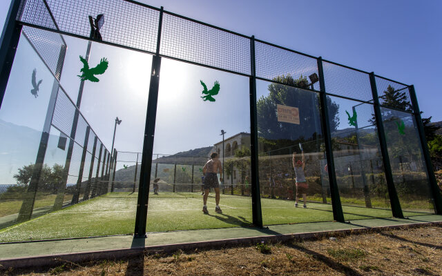
<svg viewBox="0 0 442 276">
<path fill-rule="evenodd" d="M 234 239 L 218 239 L 204 242 L 186 242 L 179 244 L 165 244 L 160 246 L 144 246 L 137 248 L 119 248 L 113 250 L 101 250 L 101 251 L 86 251 L 79 253 L 63 253 L 54 255 L 39 255 L 29 257 L 17 257 L 10 259 L 0 259 L 0 268 L 37 268 L 45 266 L 59 266 L 66 262 L 70 263 L 82 263 L 97 261 L 103 259 L 124 259 L 127 257 L 140 256 L 144 254 L 153 253 L 173 253 L 177 250 L 195 250 L 198 249 L 211 249 L 222 248 L 231 246 L 244 246 L 250 244 L 258 244 L 260 242 L 275 243 L 275 242 L 288 242 L 294 239 L 320 239 L 323 237 L 343 236 L 349 234 L 363 234 L 374 233 L 382 230 L 397 229 L 397 228 L 414 228 L 420 226 L 439 226 L 442 225 L 442 221 L 436 222 L 417 222 L 412 224 L 398 224 L 394 226 L 379 226 L 370 228 L 355 228 L 355 229 L 343 229 L 343 230 L 329 230 L 329 231 L 317 231 L 309 233 L 294 233 L 294 234 L 281 234 L 281 235 L 264 235 L 255 237 L 242 237 Z"/>
</svg>

